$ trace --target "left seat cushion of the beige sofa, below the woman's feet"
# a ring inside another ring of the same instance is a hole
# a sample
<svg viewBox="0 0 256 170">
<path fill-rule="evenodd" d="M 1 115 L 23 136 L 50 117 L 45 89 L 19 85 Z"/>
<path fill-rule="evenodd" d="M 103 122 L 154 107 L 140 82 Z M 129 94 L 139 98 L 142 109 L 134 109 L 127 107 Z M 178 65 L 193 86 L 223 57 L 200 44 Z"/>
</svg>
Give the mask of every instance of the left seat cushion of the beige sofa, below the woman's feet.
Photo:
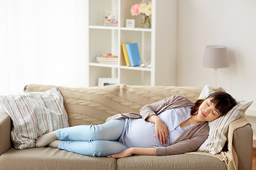
<svg viewBox="0 0 256 170">
<path fill-rule="evenodd" d="M 29 149 L 11 148 L 0 156 L 0 169 L 109 169 L 114 170 L 116 159 L 107 157 L 87 157 L 50 147 Z"/>
</svg>

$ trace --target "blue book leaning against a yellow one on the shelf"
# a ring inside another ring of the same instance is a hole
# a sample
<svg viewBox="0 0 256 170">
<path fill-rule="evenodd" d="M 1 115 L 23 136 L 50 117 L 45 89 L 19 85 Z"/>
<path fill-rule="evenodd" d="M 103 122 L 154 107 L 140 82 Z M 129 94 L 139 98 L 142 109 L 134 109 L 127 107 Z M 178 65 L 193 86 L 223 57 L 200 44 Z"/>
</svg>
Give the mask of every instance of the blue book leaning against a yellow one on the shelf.
<svg viewBox="0 0 256 170">
<path fill-rule="evenodd" d="M 138 44 L 132 43 L 132 44 L 126 44 L 125 46 L 127 47 L 127 54 L 129 57 L 129 62 L 131 64 L 131 67 L 139 66 L 140 64 L 142 64 L 142 61 L 139 55 Z"/>
</svg>

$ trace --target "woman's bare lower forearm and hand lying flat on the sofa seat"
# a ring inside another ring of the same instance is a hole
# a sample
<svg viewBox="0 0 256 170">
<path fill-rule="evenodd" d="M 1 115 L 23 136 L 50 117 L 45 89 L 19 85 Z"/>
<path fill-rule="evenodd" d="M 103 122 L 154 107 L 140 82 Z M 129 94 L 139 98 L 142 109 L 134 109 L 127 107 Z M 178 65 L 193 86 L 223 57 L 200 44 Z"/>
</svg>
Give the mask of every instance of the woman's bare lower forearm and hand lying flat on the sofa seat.
<svg viewBox="0 0 256 170">
<path fill-rule="evenodd" d="M 153 156 L 155 154 L 154 147 L 149 148 L 142 148 L 142 147 L 130 147 L 119 154 L 112 154 L 107 157 L 114 157 L 114 158 L 122 158 L 122 157 L 130 157 L 132 154 L 139 154 L 139 155 L 149 155 Z"/>
</svg>

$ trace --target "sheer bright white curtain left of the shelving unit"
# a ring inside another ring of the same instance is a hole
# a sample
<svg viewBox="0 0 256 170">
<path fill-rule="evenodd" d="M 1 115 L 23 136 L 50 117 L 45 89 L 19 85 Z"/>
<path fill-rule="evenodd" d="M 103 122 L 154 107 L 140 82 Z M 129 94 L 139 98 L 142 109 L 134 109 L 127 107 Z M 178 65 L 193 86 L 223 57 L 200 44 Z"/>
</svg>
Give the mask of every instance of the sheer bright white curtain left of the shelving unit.
<svg viewBox="0 0 256 170">
<path fill-rule="evenodd" d="M 84 86 L 85 0 L 0 0 L 0 95 Z"/>
</svg>

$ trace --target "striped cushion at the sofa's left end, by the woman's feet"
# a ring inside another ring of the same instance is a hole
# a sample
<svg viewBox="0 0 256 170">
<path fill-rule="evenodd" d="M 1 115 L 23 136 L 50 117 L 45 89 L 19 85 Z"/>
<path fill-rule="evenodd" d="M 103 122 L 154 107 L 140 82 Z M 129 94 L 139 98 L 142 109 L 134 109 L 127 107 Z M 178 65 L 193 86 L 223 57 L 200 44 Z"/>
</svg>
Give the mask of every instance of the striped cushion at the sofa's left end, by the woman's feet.
<svg viewBox="0 0 256 170">
<path fill-rule="evenodd" d="M 13 122 L 11 139 L 16 149 L 35 147 L 39 136 L 68 127 L 63 97 L 57 88 L 45 92 L 0 96 L 0 103 Z"/>
</svg>

